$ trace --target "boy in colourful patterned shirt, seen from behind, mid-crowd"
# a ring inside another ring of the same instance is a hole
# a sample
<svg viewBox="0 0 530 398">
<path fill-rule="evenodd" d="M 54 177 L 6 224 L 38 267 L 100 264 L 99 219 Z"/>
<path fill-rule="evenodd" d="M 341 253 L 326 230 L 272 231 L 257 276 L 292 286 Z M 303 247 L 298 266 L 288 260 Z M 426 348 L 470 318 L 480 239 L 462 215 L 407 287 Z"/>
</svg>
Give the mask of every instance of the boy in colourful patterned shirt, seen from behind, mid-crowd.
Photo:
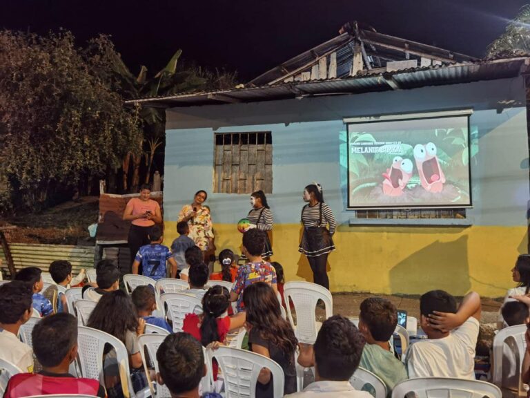
<svg viewBox="0 0 530 398">
<path fill-rule="evenodd" d="M 243 234 L 242 252 L 249 262 L 237 269 L 234 285 L 230 292 L 230 301 L 237 301 L 237 312 L 244 310 L 243 291 L 248 285 L 256 282 L 265 282 L 273 287 L 275 294 L 278 292 L 276 270 L 271 263 L 262 259 L 264 247 L 264 231 L 249 229 Z"/>
</svg>

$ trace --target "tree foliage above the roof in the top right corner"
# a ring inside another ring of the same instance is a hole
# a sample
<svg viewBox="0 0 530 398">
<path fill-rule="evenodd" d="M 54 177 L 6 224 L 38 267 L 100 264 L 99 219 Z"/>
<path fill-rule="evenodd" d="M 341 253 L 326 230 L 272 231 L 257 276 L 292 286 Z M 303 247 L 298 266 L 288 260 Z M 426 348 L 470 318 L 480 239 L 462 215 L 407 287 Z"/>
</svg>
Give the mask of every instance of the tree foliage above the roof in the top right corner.
<svg viewBox="0 0 530 398">
<path fill-rule="evenodd" d="M 498 39 L 488 46 L 487 56 L 530 54 L 530 5 L 522 7 Z"/>
</svg>

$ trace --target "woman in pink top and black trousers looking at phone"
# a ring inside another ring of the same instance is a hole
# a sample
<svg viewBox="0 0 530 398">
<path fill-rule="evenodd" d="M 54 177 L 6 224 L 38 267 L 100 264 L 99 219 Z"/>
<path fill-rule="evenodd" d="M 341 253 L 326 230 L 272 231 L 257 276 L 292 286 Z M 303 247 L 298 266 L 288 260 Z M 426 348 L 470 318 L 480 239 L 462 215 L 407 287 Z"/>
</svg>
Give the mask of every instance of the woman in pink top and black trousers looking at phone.
<svg viewBox="0 0 530 398">
<path fill-rule="evenodd" d="M 130 220 L 128 245 L 130 250 L 130 263 L 141 246 L 148 245 L 149 231 L 153 225 L 162 222 L 160 205 L 156 200 L 150 199 L 151 188 L 148 184 L 140 187 L 139 198 L 132 198 L 128 201 L 124 211 L 124 220 Z"/>
</svg>

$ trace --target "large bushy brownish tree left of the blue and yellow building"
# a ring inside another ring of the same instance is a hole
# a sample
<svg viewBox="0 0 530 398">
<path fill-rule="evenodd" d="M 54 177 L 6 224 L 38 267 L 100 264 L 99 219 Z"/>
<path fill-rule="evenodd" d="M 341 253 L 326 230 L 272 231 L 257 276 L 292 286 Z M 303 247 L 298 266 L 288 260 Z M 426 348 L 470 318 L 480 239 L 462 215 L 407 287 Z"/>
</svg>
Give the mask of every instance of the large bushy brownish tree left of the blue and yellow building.
<svg viewBox="0 0 530 398">
<path fill-rule="evenodd" d="M 0 31 L 0 169 L 26 205 L 138 151 L 139 109 L 123 106 L 103 56 L 76 48 L 70 32 Z"/>
</svg>

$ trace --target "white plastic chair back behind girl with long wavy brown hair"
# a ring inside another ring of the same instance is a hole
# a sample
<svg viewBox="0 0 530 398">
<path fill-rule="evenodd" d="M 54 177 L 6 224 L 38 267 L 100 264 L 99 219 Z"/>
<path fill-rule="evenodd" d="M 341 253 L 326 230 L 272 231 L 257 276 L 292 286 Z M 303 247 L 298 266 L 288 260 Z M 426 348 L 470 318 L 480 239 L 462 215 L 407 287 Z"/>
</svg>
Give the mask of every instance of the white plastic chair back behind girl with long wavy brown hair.
<svg viewBox="0 0 530 398">
<path fill-rule="evenodd" d="M 208 357 L 216 359 L 224 377 L 226 398 L 255 397 L 257 377 L 262 368 L 271 370 L 274 398 L 284 396 L 284 370 L 271 358 L 238 348 L 219 347 L 206 350 Z"/>
</svg>

